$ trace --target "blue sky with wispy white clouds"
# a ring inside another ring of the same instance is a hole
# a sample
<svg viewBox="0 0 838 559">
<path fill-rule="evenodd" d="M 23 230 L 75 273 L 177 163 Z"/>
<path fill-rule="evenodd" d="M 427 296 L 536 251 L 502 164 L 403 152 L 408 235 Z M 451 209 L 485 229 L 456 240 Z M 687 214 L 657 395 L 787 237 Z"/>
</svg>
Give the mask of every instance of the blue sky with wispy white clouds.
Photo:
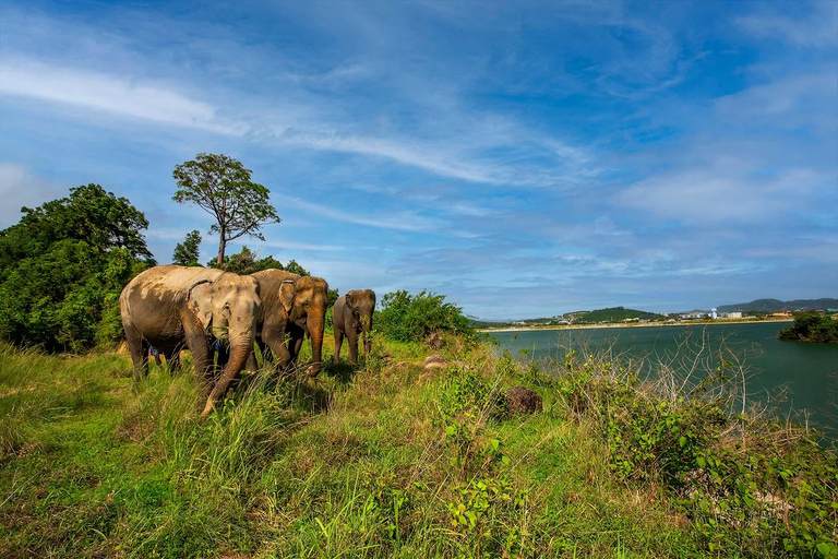
<svg viewBox="0 0 838 559">
<path fill-rule="evenodd" d="M 169 262 L 225 153 L 261 255 L 471 316 L 838 297 L 838 2 L 0 2 L 0 227 L 98 182 Z M 238 250 L 237 246 L 231 247 Z"/>
</svg>

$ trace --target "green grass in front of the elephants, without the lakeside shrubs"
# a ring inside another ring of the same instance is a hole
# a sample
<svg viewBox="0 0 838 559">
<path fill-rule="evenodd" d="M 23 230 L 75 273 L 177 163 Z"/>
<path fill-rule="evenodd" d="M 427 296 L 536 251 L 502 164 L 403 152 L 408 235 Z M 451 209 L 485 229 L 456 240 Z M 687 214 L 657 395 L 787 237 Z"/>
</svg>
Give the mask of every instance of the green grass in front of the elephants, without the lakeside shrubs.
<svg viewBox="0 0 838 559">
<path fill-rule="evenodd" d="M 379 340 L 315 380 L 260 371 L 202 423 L 189 373 L 134 391 L 125 356 L 0 345 L 0 556 L 704 556 L 558 391 L 492 415 L 454 386 L 526 373 L 454 344 L 459 367 L 420 380 L 426 353 Z"/>
</svg>

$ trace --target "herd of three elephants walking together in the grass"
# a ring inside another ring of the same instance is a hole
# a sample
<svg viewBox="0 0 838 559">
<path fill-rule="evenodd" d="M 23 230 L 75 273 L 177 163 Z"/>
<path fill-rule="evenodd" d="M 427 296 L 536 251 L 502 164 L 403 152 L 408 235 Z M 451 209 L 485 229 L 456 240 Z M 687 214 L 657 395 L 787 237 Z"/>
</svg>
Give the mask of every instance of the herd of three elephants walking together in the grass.
<svg viewBox="0 0 838 559">
<path fill-rule="evenodd" d="M 283 270 L 239 275 L 205 267 L 155 266 L 125 286 L 119 305 L 134 381 L 148 374 L 152 347 L 164 355 L 170 369 L 180 367 L 180 352 L 189 349 L 205 390 L 202 417 L 212 413 L 242 369 L 256 369 L 253 342 L 265 359 L 275 358 L 283 370 L 296 362 L 309 337 L 312 362 L 306 372 L 310 377 L 320 372 L 328 307 L 328 284 L 322 277 Z M 359 335 L 369 354 L 374 308 L 371 289 L 351 290 L 335 301 L 335 360 L 344 338 L 349 342 L 349 361 L 357 360 Z"/>
</svg>

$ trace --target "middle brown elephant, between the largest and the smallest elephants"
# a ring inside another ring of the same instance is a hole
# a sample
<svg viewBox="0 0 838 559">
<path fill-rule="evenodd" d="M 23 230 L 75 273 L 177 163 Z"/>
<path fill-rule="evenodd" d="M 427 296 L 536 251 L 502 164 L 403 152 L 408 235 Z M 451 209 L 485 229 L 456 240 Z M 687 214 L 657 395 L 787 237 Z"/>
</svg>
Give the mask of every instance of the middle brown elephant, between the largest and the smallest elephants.
<svg viewBox="0 0 838 559">
<path fill-rule="evenodd" d="M 279 368 L 287 369 L 296 362 L 308 335 L 312 362 L 306 373 L 316 377 L 322 365 L 328 284 L 322 277 L 284 270 L 262 270 L 251 277 L 259 282 L 262 294 L 255 331 L 262 355 L 268 356 L 267 349 L 271 349 Z M 248 368 L 255 369 L 255 358 L 251 357 Z"/>
</svg>

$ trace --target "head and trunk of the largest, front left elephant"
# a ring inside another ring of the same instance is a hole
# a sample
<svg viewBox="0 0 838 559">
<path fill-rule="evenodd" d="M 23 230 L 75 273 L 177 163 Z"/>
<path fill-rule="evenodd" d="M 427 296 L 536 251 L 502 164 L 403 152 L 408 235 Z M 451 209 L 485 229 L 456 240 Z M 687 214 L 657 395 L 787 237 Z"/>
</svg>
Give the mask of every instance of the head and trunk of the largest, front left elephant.
<svg viewBox="0 0 838 559">
<path fill-rule="evenodd" d="M 190 309 L 208 335 L 229 345 L 229 358 L 218 376 L 202 415 L 212 412 L 232 379 L 244 368 L 253 348 L 256 316 L 262 305 L 259 283 L 250 276 L 224 273 L 189 292 Z"/>
</svg>

